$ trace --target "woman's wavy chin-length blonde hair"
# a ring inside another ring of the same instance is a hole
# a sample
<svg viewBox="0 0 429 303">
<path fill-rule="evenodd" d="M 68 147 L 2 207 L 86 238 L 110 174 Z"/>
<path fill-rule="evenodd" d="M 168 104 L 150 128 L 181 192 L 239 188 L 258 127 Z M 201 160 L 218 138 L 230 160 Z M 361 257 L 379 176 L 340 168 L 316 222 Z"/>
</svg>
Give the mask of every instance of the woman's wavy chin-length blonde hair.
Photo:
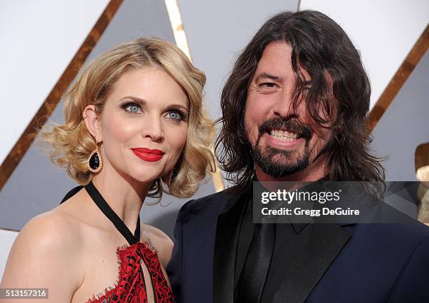
<svg viewBox="0 0 429 303">
<path fill-rule="evenodd" d="M 175 197 L 190 197 L 207 171 L 215 169 L 212 154 L 214 124 L 203 108 L 205 74 L 196 69 L 176 45 L 159 38 L 137 38 L 114 46 L 94 59 L 79 74 L 64 94 L 64 124 L 51 123 L 41 130 L 41 141 L 49 146 L 50 160 L 67 169 L 81 185 L 89 183 L 88 157 L 96 142 L 83 120 L 83 110 L 93 104 L 101 113 L 111 87 L 128 69 L 158 66 L 186 92 L 189 99 L 188 135 L 182 155 L 168 174 L 154 181 L 149 197 L 161 199 L 167 192 Z M 164 185 L 166 186 L 163 186 Z"/>
</svg>

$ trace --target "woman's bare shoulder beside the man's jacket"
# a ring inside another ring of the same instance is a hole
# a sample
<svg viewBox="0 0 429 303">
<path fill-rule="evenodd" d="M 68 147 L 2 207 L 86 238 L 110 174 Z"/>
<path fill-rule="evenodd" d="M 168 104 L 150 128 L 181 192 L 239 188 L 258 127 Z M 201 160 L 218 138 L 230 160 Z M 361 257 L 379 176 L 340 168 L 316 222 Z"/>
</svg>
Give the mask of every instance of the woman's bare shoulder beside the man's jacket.
<svg viewBox="0 0 429 303">
<path fill-rule="evenodd" d="M 165 232 L 146 223 L 142 223 L 142 231 L 149 238 L 149 243 L 158 251 L 158 258 L 166 267 L 171 258 L 173 242 Z"/>
</svg>

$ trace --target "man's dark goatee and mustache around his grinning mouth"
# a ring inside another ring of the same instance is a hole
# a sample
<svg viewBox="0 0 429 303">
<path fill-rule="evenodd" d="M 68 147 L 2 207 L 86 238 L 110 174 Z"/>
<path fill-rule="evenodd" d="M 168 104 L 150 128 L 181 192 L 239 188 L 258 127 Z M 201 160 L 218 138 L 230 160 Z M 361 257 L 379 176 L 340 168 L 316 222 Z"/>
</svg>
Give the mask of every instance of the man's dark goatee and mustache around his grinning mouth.
<svg viewBox="0 0 429 303">
<path fill-rule="evenodd" d="M 287 132 L 297 134 L 297 139 L 303 138 L 305 140 L 304 153 L 300 154 L 297 150 L 280 150 L 271 146 L 259 146 L 261 137 L 265 133 L 268 133 L 270 129 L 285 129 Z M 295 118 L 289 120 L 282 120 L 280 118 L 266 120 L 259 127 L 259 135 L 256 143 L 254 145 L 251 144 L 254 161 L 261 167 L 265 174 L 273 178 L 290 176 L 302 171 L 310 164 L 309 143 L 312 136 L 313 132 L 311 132 L 311 129 Z M 332 139 L 320 150 L 312 162 L 328 150 L 329 146 L 331 146 L 331 141 Z M 273 158 L 277 159 L 274 160 Z"/>
</svg>

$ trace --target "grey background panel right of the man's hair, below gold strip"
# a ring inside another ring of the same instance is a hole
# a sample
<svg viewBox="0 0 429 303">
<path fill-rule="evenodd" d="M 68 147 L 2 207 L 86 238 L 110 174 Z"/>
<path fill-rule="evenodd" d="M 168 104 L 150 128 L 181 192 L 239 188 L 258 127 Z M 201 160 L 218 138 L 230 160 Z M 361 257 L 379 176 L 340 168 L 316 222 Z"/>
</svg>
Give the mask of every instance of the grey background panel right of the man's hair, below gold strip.
<svg viewBox="0 0 429 303">
<path fill-rule="evenodd" d="M 417 181 L 414 155 L 429 142 L 429 52 L 418 62 L 372 130 L 372 149 L 382 162 L 387 181 Z"/>
</svg>

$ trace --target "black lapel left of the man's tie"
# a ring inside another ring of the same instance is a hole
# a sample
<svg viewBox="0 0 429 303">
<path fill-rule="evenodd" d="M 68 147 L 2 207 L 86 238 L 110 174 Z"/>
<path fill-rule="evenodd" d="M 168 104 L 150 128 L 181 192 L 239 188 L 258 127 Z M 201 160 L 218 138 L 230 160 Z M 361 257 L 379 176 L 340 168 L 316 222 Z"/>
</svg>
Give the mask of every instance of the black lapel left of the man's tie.
<svg viewBox="0 0 429 303">
<path fill-rule="evenodd" d="M 214 303 L 233 303 L 238 233 L 246 202 L 247 195 L 231 199 L 226 204 L 226 211 L 217 218 L 213 260 Z M 228 206 L 232 206 L 231 209 Z"/>
</svg>

